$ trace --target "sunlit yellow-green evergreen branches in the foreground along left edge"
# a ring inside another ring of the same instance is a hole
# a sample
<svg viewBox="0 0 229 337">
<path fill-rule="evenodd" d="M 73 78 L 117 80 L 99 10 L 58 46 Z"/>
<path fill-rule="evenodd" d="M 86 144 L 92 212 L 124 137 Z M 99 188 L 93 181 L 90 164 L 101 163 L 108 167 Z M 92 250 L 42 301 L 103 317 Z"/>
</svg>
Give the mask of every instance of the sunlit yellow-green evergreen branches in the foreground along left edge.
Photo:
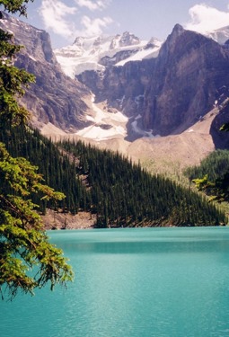
<svg viewBox="0 0 229 337">
<path fill-rule="evenodd" d="M 26 14 L 28 1 L 3 0 L 0 5 L 10 13 Z M 0 126 L 8 129 L 23 124 L 29 112 L 18 103 L 33 75 L 13 66 L 13 58 L 21 49 L 13 44 L 13 35 L 0 30 Z M 63 252 L 48 242 L 40 216 L 31 195 L 41 200 L 62 200 L 63 193 L 44 184 L 37 167 L 23 157 L 13 157 L 0 143 L 0 292 L 13 298 L 21 289 L 33 293 L 34 288 L 50 282 L 66 284 L 73 272 Z"/>
</svg>

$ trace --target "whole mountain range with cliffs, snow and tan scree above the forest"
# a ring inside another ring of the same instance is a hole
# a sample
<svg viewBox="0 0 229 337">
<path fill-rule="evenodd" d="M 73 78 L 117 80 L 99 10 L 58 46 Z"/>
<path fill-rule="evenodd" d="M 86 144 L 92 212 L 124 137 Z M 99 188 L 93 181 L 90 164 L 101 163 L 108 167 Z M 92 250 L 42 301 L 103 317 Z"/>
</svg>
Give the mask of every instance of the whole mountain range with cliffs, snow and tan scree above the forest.
<svg viewBox="0 0 229 337">
<path fill-rule="evenodd" d="M 176 25 L 163 43 L 125 32 L 53 51 L 45 31 L 5 13 L 0 27 L 25 46 L 15 65 L 37 81 L 22 102 L 43 135 L 118 150 L 154 173 L 227 147 L 228 30 L 213 40 Z"/>
</svg>

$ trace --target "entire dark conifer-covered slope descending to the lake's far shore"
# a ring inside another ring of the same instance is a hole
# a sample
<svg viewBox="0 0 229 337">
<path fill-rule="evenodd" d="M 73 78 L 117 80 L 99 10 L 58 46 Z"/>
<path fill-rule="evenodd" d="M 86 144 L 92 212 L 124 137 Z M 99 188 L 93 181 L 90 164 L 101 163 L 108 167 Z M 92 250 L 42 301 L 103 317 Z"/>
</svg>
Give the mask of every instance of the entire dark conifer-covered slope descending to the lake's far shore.
<svg viewBox="0 0 229 337">
<path fill-rule="evenodd" d="M 53 144 L 39 131 L 3 129 L 11 155 L 25 156 L 39 166 L 49 186 L 66 194 L 53 205 L 34 196 L 40 211 L 89 211 L 97 227 L 108 226 L 218 226 L 225 215 L 207 200 L 110 150 L 83 142 Z"/>
</svg>

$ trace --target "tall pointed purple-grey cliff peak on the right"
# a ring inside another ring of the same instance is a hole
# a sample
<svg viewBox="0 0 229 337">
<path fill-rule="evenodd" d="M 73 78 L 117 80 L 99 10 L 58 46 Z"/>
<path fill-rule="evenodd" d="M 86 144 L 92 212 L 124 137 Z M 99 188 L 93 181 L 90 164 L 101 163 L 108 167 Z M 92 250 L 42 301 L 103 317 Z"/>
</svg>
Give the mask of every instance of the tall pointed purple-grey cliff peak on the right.
<svg viewBox="0 0 229 337">
<path fill-rule="evenodd" d="M 145 88 L 143 124 L 160 135 L 180 133 L 210 111 L 229 87 L 228 49 L 176 25 Z"/>
</svg>

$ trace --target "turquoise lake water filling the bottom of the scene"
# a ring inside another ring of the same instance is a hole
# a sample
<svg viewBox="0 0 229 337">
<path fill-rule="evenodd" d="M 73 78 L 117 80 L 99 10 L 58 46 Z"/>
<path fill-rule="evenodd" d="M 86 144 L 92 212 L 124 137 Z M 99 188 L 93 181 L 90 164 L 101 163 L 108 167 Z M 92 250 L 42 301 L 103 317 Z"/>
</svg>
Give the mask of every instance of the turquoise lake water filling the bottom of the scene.
<svg viewBox="0 0 229 337">
<path fill-rule="evenodd" d="M 75 281 L 0 301 L 1 336 L 229 336 L 228 227 L 48 235 Z"/>
</svg>

